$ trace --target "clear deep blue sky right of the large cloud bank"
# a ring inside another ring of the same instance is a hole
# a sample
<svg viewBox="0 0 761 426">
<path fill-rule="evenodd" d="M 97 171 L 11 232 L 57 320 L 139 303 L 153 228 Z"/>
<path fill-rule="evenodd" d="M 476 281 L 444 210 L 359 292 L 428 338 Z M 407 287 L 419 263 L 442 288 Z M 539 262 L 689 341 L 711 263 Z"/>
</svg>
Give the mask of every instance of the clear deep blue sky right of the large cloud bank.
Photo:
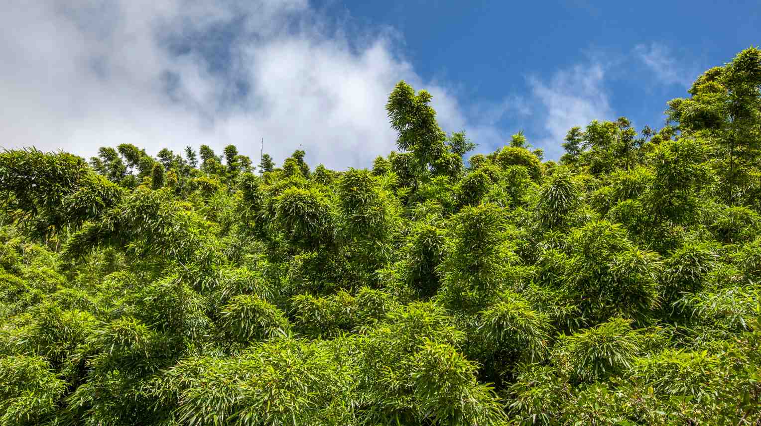
<svg viewBox="0 0 761 426">
<path fill-rule="evenodd" d="M 314 4 L 361 25 L 398 31 L 419 75 L 453 84 L 465 104 L 499 103 L 510 94 L 531 103 L 533 79 L 601 65 L 605 77 L 598 87 L 610 112 L 639 126 L 662 126 L 667 100 L 686 96 L 699 73 L 761 39 L 758 1 Z M 508 113 L 497 124 L 546 138 L 535 118 Z"/>
</svg>

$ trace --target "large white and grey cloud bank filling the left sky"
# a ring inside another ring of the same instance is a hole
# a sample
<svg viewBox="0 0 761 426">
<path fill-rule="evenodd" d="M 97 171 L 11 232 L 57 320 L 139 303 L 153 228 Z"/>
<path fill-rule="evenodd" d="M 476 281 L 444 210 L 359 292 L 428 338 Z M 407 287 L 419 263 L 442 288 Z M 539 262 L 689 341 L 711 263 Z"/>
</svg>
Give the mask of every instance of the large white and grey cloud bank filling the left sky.
<svg viewBox="0 0 761 426">
<path fill-rule="evenodd" d="M 331 28 L 307 0 L 10 0 L 0 145 L 90 156 L 233 143 L 256 162 L 263 137 L 278 161 L 301 146 L 312 164 L 368 166 L 395 146 L 384 105 L 400 79 L 435 95 L 445 130 L 501 141 L 504 111 L 468 119 L 395 53 L 393 33 Z"/>
</svg>

